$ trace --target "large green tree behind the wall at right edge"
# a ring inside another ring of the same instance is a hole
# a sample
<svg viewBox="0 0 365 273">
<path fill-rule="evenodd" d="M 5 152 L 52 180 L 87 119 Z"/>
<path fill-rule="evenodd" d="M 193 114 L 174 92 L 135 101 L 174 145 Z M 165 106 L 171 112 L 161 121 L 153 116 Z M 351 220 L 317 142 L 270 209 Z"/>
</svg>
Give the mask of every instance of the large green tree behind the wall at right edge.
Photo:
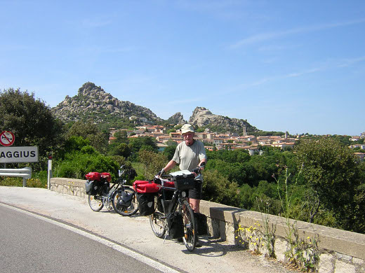
<svg viewBox="0 0 365 273">
<path fill-rule="evenodd" d="M 317 202 L 334 212 L 340 228 L 361 231 L 364 224 L 359 223 L 359 218 L 364 218 L 365 208 L 359 208 L 355 202 L 363 200 L 359 196 L 363 191 L 359 190 L 359 165 L 352 151 L 335 139 L 322 137 L 302 141 L 296 152 L 298 161 L 303 164 L 303 176 L 318 198 Z"/>
</svg>

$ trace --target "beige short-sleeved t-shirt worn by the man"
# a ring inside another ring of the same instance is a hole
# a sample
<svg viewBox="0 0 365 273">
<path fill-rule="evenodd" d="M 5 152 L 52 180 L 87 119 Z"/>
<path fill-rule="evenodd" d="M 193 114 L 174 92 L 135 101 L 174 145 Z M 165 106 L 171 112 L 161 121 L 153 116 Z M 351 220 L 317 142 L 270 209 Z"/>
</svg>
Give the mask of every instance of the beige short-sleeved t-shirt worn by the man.
<svg viewBox="0 0 365 273">
<path fill-rule="evenodd" d="M 180 170 L 189 170 L 192 172 L 193 169 L 198 167 L 199 162 L 206 158 L 206 151 L 204 144 L 201 141 L 194 141 L 192 146 L 187 146 L 185 141 L 181 142 L 175 150 L 173 155 L 173 161 L 180 165 Z"/>
</svg>

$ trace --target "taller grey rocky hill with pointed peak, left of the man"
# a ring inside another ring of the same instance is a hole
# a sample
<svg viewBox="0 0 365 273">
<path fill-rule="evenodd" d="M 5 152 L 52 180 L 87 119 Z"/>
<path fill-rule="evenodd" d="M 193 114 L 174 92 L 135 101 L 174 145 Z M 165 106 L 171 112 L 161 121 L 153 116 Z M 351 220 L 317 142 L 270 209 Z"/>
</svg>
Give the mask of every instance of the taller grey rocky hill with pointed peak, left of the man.
<svg viewBox="0 0 365 273">
<path fill-rule="evenodd" d="M 51 111 L 66 123 L 77 120 L 92 120 L 94 123 L 112 123 L 116 120 L 140 123 L 162 121 L 150 109 L 120 101 L 94 83 L 84 83 L 76 96 L 67 96 Z"/>
</svg>

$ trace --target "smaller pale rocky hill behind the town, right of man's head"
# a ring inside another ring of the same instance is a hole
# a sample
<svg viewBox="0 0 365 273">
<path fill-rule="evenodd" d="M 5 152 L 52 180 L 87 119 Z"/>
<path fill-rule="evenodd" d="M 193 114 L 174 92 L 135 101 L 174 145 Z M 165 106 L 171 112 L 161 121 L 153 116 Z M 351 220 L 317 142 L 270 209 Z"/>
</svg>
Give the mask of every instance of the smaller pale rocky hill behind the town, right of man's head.
<svg viewBox="0 0 365 273">
<path fill-rule="evenodd" d="M 256 132 L 258 129 L 247 122 L 238 118 L 228 118 L 218 116 L 204 107 L 197 107 L 192 112 L 189 123 L 198 127 L 210 128 L 217 132 L 242 132 L 243 127 L 246 127 L 247 132 Z"/>
</svg>

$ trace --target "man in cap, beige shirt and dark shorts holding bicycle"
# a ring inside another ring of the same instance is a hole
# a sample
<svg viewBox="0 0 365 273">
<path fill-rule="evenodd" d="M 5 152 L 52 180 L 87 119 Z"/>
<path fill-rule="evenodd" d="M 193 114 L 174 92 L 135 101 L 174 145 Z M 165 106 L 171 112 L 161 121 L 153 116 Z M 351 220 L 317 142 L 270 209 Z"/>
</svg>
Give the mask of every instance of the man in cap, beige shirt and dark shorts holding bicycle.
<svg viewBox="0 0 365 273">
<path fill-rule="evenodd" d="M 168 172 L 175 165 L 179 165 L 180 170 L 189 170 L 193 172 L 197 167 L 201 166 L 201 163 L 206 163 L 206 151 L 204 144 L 201 141 L 194 139 L 194 127 L 190 124 L 185 124 L 181 127 L 184 141 L 181 142 L 175 150 L 173 159 L 167 163 L 166 167 L 161 172 Z M 194 173 L 195 174 L 195 173 Z M 197 176 L 197 174 L 195 174 Z M 189 190 L 188 202 L 193 211 L 199 213 L 200 200 L 202 198 L 202 181 L 195 184 L 193 190 Z"/>
</svg>

